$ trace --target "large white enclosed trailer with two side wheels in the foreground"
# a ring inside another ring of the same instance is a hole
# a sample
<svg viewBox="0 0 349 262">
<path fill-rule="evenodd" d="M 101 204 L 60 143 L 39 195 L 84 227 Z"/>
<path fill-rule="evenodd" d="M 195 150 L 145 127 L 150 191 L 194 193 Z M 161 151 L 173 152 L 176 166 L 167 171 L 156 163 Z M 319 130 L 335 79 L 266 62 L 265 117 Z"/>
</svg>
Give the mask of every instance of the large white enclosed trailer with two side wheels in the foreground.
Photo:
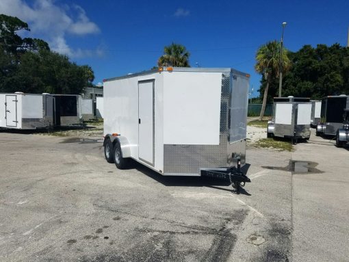
<svg viewBox="0 0 349 262">
<path fill-rule="evenodd" d="M 160 68 L 104 81 L 105 158 L 129 158 L 163 175 L 250 182 L 246 156 L 249 75 L 231 68 Z M 237 165 L 237 168 L 235 168 Z"/>
</svg>

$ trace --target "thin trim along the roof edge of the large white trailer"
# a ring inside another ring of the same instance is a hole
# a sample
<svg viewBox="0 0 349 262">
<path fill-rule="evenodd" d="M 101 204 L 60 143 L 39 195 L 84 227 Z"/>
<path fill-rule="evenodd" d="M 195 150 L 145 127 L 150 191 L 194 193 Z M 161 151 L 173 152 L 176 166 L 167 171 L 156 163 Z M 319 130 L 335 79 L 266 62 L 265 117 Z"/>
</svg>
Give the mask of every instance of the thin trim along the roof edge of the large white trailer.
<svg viewBox="0 0 349 262">
<path fill-rule="evenodd" d="M 166 67 L 165 67 L 166 68 Z M 120 77 L 112 77 L 109 79 L 104 79 L 103 82 L 119 80 L 119 79 L 127 79 L 131 77 L 140 77 L 142 75 L 150 75 L 153 73 L 163 73 L 168 72 L 166 70 L 159 72 L 159 70 L 147 70 L 139 73 L 123 75 Z M 244 75 L 244 77 L 249 78 L 247 73 L 243 73 L 239 70 L 235 70 L 233 68 L 203 68 L 203 67 L 172 67 L 172 72 L 205 72 L 205 73 L 235 73 L 239 75 Z"/>
</svg>

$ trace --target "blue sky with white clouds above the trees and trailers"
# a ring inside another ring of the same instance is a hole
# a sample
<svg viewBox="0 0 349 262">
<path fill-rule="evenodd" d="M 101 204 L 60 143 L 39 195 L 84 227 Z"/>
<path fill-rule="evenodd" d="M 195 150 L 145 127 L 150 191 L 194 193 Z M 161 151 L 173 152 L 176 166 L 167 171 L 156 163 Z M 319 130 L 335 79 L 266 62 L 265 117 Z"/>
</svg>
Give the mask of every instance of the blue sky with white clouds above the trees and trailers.
<svg viewBox="0 0 349 262">
<path fill-rule="evenodd" d="M 17 16 L 51 50 L 94 70 L 94 83 L 157 65 L 164 47 L 183 44 L 190 65 L 231 67 L 249 73 L 252 97 L 261 75 L 255 54 L 261 44 L 280 40 L 298 51 L 303 45 L 346 46 L 349 1 L 127 1 L 0 0 L 0 14 Z"/>
</svg>

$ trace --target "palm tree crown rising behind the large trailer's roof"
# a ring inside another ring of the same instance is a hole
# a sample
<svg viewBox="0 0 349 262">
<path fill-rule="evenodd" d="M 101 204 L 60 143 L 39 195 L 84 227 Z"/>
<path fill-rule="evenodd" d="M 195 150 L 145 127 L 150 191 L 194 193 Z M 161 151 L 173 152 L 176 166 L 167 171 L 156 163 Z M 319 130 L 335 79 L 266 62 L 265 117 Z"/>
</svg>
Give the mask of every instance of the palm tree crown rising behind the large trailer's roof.
<svg viewBox="0 0 349 262">
<path fill-rule="evenodd" d="M 189 65 L 190 53 L 181 44 L 170 44 L 164 48 L 164 55 L 159 57 L 157 65 L 161 66 L 178 66 L 178 67 L 190 67 Z"/>
</svg>

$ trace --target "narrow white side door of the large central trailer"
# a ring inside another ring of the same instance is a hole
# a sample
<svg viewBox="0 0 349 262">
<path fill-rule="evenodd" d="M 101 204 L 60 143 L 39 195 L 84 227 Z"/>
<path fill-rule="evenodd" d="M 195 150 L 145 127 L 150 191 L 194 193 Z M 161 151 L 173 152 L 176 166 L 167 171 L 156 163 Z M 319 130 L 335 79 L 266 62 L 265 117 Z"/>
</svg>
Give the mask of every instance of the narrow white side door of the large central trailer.
<svg viewBox="0 0 349 262">
<path fill-rule="evenodd" d="M 154 79 L 138 82 L 138 157 L 154 166 Z"/>
</svg>

